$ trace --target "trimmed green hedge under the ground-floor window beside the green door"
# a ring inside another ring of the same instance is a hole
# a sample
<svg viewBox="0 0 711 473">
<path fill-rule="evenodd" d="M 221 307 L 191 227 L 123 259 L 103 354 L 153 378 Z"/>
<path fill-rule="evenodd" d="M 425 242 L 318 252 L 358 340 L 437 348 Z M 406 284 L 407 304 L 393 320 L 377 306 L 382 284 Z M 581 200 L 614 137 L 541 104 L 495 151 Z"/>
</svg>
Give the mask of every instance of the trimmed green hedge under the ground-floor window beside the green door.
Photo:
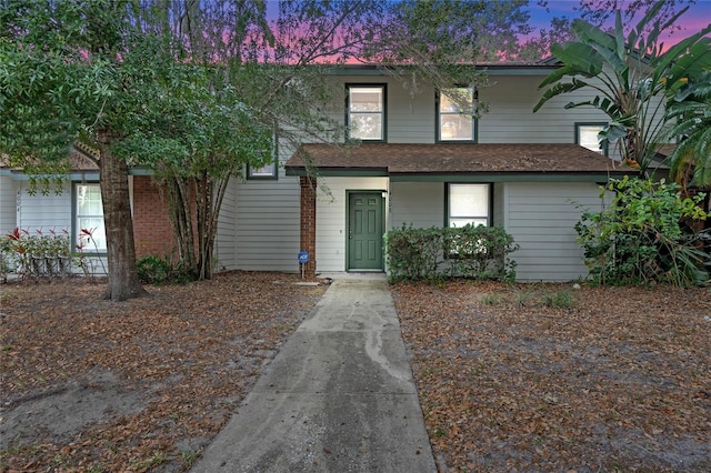
<svg viewBox="0 0 711 473">
<path fill-rule="evenodd" d="M 498 227 L 429 228 L 402 225 L 385 234 L 388 270 L 393 280 L 443 278 L 513 281 L 518 250 L 513 236 Z"/>
</svg>

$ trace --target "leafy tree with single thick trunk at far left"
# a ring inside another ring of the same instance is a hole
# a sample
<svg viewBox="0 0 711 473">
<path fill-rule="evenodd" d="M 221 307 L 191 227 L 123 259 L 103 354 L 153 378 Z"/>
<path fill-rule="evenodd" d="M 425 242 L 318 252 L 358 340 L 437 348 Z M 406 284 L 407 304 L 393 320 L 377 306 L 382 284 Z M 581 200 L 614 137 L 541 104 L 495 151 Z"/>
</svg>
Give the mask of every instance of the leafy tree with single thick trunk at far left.
<svg viewBox="0 0 711 473">
<path fill-rule="evenodd" d="M 136 272 L 128 165 L 111 144 L 130 133 L 126 110 L 141 84 L 124 53 L 140 33 L 138 2 L 3 0 L 0 6 L 0 152 L 13 165 L 54 170 L 74 140 L 99 150 L 107 231 L 106 296 L 144 294 Z M 29 165 L 28 165 L 29 164 Z"/>
</svg>

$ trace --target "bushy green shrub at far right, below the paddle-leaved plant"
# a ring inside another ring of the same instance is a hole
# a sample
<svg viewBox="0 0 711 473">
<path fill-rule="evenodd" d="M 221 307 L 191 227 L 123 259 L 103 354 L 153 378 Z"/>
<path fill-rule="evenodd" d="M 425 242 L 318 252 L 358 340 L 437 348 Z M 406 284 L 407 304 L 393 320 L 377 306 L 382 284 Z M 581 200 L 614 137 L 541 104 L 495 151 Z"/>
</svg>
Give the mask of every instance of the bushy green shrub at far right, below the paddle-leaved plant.
<svg viewBox="0 0 711 473">
<path fill-rule="evenodd" d="M 709 254 L 684 220 L 704 220 L 703 194 L 681 198 L 675 183 L 625 177 L 601 187 L 614 192 L 601 212 L 585 211 L 575 224 L 585 264 L 595 283 L 638 285 L 654 282 L 690 286 L 708 281 Z"/>
</svg>

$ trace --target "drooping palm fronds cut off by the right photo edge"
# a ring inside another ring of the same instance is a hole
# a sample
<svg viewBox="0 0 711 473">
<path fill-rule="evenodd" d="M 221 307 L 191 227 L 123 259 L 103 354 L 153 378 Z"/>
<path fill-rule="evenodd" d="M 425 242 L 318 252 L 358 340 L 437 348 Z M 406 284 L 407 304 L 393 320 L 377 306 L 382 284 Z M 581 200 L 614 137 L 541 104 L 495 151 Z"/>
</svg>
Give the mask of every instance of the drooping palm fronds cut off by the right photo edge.
<svg viewBox="0 0 711 473">
<path fill-rule="evenodd" d="M 669 155 L 674 180 L 684 191 L 711 187 L 711 71 L 689 78 L 670 98 L 665 118 L 675 122 L 670 138 L 679 139 Z"/>
</svg>

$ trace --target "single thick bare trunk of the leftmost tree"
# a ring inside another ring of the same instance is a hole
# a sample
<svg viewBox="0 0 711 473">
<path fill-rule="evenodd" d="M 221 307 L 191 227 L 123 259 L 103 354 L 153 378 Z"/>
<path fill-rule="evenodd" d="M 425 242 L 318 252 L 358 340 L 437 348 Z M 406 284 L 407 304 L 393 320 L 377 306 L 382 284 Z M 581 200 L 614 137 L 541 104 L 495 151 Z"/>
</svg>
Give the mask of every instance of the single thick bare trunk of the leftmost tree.
<svg viewBox="0 0 711 473">
<path fill-rule="evenodd" d="M 114 138 L 111 130 L 101 129 L 98 132 L 99 182 L 101 184 L 109 263 L 109 284 L 104 298 L 112 301 L 126 301 L 148 293 L 139 283 L 136 271 L 128 165 L 109 150 Z"/>
</svg>

